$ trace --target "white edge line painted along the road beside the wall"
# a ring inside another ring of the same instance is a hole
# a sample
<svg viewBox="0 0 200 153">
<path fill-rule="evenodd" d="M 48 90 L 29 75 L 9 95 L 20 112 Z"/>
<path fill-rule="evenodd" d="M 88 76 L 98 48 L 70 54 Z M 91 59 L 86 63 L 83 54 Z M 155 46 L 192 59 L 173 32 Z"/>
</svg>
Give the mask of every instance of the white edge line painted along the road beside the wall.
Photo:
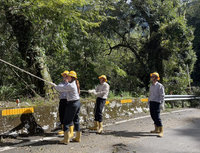
<svg viewBox="0 0 200 153">
<path fill-rule="evenodd" d="M 166 115 L 166 114 L 171 114 L 171 113 L 179 113 L 179 112 L 185 112 L 185 111 L 192 111 L 192 110 L 195 110 L 195 109 L 177 110 L 177 111 L 172 111 L 172 112 L 168 112 L 168 113 L 161 113 L 161 115 Z M 141 117 L 132 118 L 132 119 L 128 119 L 128 120 L 118 121 L 118 122 L 115 122 L 113 124 L 107 124 L 104 127 L 116 125 L 116 124 L 121 124 L 121 123 L 124 123 L 124 122 L 139 120 L 139 119 L 143 119 L 143 118 L 149 118 L 149 117 L 150 117 L 150 115 L 146 115 L 146 116 L 141 116 Z M 39 141 L 53 140 L 53 139 L 57 139 L 57 138 L 58 138 L 58 136 L 56 136 L 56 137 L 45 137 L 45 138 L 40 138 L 40 139 L 36 139 L 36 140 L 30 140 L 29 142 L 24 142 L 24 143 L 21 143 L 21 144 L 13 145 L 12 147 L 9 147 L 9 146 L 2 147 L 2 148 L 0 148 L 0 152 L 15 149 L 17 147 L 23 147 L 23 146 L 26 146 L 26 145 L 31 145 L 31 144 L 39 142 Z"/>
</svg>

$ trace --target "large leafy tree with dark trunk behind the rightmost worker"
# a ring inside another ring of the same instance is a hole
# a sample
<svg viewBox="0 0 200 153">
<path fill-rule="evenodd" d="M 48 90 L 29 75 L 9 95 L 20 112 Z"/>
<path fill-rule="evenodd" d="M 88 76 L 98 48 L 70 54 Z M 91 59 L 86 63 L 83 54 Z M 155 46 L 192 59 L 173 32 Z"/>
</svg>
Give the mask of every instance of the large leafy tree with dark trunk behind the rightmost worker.
<svg viewBox="0 0 200 153">
<path fill-rule="evenodd" d="M 105 26 L 102 25 L 105 29 L 102 32 L 111 54 L 113 50 L 132 53 L 131 58 L 118 61 L 127 76 L 132 77 L 128 79 L 134 82 L 132 89 L 138 86 L 148 89 L 149 74 L 157 71 L 164 84 L 168 85 L 168 78 L 179 83 L 181 88 L 174 88 L 177 89 L 174 93 L 184 92 L 188 85 L 186 67 L 191 73 L 196 55 L 192 50 L 192 28 L 186 25 L 181 12 L 183 4 L 175 0 L 133 0 L 129 4 L 123 1 L 119 4 L 111 12 L 117 16 L 116 20 L 108 20 Z"/>
</svg>

